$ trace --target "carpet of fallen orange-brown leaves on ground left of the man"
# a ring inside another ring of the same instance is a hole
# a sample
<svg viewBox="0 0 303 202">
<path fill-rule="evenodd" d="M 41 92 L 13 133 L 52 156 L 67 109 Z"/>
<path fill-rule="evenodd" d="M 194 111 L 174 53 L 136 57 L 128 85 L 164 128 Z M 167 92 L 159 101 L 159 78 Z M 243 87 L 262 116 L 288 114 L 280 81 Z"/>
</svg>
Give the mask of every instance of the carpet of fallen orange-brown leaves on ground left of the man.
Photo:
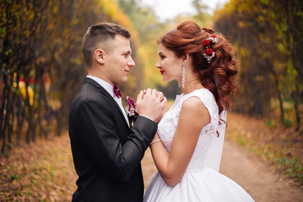
<svg viewBox="0 0 303 202">
<path fill-rule="evenodd" d="M 76 190 L 68 134 L 22 144 L 0 158 L 0 201 L 71 201 Z"/>
</svg>

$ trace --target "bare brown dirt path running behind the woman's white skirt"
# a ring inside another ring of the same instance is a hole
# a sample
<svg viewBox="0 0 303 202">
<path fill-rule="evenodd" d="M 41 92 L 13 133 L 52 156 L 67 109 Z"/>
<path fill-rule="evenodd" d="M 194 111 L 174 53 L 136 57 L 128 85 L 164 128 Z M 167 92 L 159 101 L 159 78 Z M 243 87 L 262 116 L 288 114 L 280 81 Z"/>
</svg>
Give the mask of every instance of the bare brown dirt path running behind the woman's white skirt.
<svg viewBox="0 0 303 202">
<path fill-rule="evenodd" d="M 149 149 L 142 160 L 142 170 L 146 189 L 157 170 Z M 220 173 L 237 182 L 255 201 L 303 201 L 302 189 L 288 184 L 288 180 L 280 178 L 268 165 L 230 140 L 225 140 L 224 143 Z"/>
</svg>

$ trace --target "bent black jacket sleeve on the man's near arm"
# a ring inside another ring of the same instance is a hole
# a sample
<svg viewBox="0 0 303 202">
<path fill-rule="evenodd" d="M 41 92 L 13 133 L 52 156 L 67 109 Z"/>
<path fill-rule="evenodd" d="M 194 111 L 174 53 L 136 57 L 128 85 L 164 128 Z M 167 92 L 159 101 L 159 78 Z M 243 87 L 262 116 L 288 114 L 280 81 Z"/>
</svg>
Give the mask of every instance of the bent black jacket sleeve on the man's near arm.
<svg viewBox="0 0 303 202">
<path fill-rule="evenodd" d="M 108 105 L 88 98 L 77 109 L 81 120 L 81 134 L 90 155 L 109 176 L 125 182 L 144 156 L 158 125 L 139 116 L 122 146 Z"/>
</svg>

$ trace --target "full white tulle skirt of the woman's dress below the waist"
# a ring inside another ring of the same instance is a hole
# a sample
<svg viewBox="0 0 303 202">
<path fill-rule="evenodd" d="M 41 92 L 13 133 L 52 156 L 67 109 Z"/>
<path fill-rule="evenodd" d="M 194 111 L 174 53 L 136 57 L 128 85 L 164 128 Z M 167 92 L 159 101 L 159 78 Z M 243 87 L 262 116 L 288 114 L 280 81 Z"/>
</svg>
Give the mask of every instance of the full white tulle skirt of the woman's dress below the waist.
<svg viewBox="0 0 303 202">
<path fill-rule="evenodd" d="M 157 171 L 151 178 L 144 195 L 144 202 L 250 202 L 250 195 L 228 177 L 204 167 L 199 171 L 185 172 L 174 187 L 168 186 Z"/>
</svg>

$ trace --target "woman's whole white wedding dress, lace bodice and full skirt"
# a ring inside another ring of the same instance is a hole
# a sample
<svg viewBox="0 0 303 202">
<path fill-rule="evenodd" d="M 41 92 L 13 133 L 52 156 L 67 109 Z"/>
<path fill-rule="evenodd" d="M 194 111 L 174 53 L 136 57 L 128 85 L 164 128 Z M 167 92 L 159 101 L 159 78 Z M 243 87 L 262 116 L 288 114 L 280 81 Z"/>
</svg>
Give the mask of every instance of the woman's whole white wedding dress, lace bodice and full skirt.
<svg viewBox="0 0 303 202">
<path fill-rule="evenodd" d="M 228 177 L 220 174 L 219 172 L 215 171 L 219 171 L 218 164 L 218 169 L 206 166 L 208 165 L 206 164 L 206 159 L 208 156 L 207 153 L 208 150 L 211 150 L 210 145 L 212 145 L 212 140 L 213 138 L 218 138 L 216 131 L 219 122 L 218 106 L 215 100 L 213 99 L 213 94 L 208 89 L 202 88 L 194 90 L 185 95 L 177 95 L 174 105 L 163 116 L 162 120 L 158 125 L 158 134 L 166 150 L 168 151 L 168 153 L 170 153 L 182 103 L 185 99 L 191 96 L 196 96 L 200 98 L 201 102 L 205 105 L 205 107 L 210 113 L 211 123 L 201 130 L 193 156 L 181 182 L 178 183 L 176 186 L 170 187 L 164 182 L 161 175 L 157 171 L 148 184 L 143 201 L 254 201 L 254 199 L 252 199 L 249 194 L 237 183 L 235 183 Z M 215 151 L 216 148 L 213 150 Z M 222 148 L 219 152 L 220 155 L 218 156 L 218 159 L 220 160 L 221 152 Z"/>
</svg>

